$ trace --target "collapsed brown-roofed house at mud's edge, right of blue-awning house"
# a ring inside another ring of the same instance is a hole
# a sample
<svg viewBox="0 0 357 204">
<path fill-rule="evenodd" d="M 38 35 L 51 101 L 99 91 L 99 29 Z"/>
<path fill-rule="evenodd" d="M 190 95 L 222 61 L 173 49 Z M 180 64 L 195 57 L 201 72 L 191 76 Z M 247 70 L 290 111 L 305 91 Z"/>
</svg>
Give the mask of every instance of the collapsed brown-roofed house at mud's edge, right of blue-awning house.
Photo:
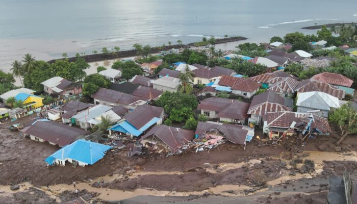
<svg viewBox="0 0 357 204">
<path fill-rule="evenodd" d="M 164 124 L 152 127 L 139 142 L 148 149 L 162 151 L 168 149 L 171 154 L 193 139 L 193 131 Z"/>
</svg>

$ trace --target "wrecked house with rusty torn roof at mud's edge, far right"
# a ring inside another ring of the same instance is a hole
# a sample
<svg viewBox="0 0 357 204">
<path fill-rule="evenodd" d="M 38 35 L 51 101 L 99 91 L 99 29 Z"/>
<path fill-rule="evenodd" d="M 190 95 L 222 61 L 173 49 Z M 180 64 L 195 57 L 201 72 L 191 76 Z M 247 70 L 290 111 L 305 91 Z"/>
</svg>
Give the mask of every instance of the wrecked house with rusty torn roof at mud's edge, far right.
<svg viewBox="0 0 357 204">
<path fill-rule="evenodd" d="M 270 133 L 270 137 L 279 137 L 283 133 L 291 135 L 292 133 L 307 132 L 328 135 L 331 133 L 328 120 L 324 117 L 312 113 L 296 112 L 270 112 L 267 116 L 266 126 L 263 127 L 264 133 Z"/>
</svg>

